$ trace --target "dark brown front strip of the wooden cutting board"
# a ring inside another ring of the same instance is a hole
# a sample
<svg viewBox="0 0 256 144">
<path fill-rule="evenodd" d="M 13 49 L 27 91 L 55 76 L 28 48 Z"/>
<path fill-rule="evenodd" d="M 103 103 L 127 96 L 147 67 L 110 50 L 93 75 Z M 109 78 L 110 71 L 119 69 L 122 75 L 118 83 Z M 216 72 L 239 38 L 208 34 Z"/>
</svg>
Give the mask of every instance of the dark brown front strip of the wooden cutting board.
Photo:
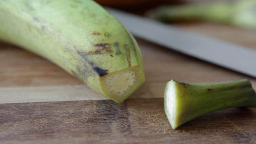
<svg viewBox="0 0 256 144">
<path fill-rule="evenodd" d="M 163 99 L 0 105 L 0 142 L 255 144 L 256 109 L 232 108 L 172 130 Z"/>
</svg>

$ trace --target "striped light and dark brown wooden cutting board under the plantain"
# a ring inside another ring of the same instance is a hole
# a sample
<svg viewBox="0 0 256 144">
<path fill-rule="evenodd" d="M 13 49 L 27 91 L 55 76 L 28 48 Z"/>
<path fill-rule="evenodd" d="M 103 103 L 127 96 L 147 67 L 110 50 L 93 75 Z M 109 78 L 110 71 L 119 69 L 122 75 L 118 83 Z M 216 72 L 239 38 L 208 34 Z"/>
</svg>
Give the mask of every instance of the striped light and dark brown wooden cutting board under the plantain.
<svg viewBox="0 0 256 144">
<path fill-rule="evenodd" d="M 256 49 L 256 31 L 212 24 L 179 24 Z M 107 100 L 53 63 L 0 44 L 0 143 L 256 143 L 256 109 L 203 115 L 172 130 L 163 108 L 171 79 L 220 83 L 256 79 L 137 39 L 146 82 L 123 104 Z M 185 41 L 184 41 L 185 42 Z"/>
</svg>

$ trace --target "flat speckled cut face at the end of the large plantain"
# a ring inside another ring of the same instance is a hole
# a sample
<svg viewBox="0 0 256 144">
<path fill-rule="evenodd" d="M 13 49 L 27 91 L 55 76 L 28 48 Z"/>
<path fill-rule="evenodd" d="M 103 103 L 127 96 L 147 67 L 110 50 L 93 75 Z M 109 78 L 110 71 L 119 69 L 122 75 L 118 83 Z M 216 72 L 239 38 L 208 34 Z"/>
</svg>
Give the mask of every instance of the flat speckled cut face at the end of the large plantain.
<svg viewBox="0 0 256 144">
<path fill-rule="evenodd" d="M 107 75 L 100 77 L 103 93 L 117 103 L 122 103 L 144 81 L 144 73 L 140 66 L 129 67 L 117 72 L 110 72 Z"/>
</svg>

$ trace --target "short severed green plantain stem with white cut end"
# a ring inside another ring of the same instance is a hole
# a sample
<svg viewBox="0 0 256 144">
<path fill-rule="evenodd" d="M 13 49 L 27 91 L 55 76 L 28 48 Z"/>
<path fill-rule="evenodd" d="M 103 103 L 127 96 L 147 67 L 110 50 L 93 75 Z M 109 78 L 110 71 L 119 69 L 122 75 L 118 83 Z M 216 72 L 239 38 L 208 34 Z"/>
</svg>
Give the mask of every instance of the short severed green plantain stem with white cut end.
<svg viewBox="0 0 256 144">
<path fill-rule="evenodd" d="M 173 129 L 203 114 L 233 107 L 256 107 L 249 80 L 190 84 L 171 80 L 164 94 L 165 113 Z"/>
</svg>

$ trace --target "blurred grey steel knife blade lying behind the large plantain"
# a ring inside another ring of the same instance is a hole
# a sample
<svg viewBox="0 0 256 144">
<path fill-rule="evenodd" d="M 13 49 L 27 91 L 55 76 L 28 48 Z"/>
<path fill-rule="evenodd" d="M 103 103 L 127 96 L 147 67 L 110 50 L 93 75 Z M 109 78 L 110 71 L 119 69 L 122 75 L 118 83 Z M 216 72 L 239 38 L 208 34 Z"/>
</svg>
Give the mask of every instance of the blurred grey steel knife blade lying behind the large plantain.
<svg viewBox="0 0 256 144">
<path fill-rule="evenodd" d="M 106 8 L 133 35 L 192 57 L 256 77 L 256 51 L 158 21 Z"/>
</svg>

